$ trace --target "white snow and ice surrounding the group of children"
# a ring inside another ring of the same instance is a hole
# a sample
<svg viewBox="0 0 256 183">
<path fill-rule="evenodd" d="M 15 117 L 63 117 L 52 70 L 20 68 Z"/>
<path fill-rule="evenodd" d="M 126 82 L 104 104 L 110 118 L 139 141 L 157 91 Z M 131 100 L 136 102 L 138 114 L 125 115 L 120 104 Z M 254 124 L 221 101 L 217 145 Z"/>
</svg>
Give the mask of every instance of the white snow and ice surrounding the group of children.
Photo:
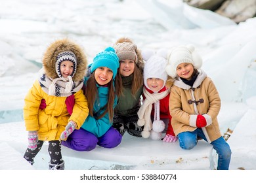
<svg viewBox="0 0 256 183">
<path fill-rule="evenodd" d="M 133 39 L 140 49 L 171 48 L 187 43 L 196 46 L 203 57 L 202 69 L 213 79 L 221 96 L 218 116 L 221 132 L 224 135 L 228 128 L 233 131 L 227 141 L 232 150 L 227 175 L 238 169 L 249 171 L 249 175 L 255 173 L 256 18 L 237 25 L 214 12 L 188 7 L 179 0 L 170 2 L 1 1 L 1 176 L 8 178 L 15 173 L 20 176 L 12 179 L 20 180 L 18 178 L 23 175 L 28 176 L 29 170 L 48 169 L 47 142 L 37 154 L 33 167 L 22 158 L 27 147 L 27 132 L 22 119 L 24 97 L 37 77 L 47 46 L 56 39 L 70 37 L 85 48 L 91 61 L 96 53 L 123 36 Z M 108 170 L 116 170 L 114 173 L 120 175 L 123 171 L 117 170 L 131 170 L 130 174 L 137 175 L 145 170 L 146 173 L 170 173 L 170 169 L 176 170 L 175 173 L 181 173 L 181 170 L 190 174 L 186 170 L 215 169 L 217 161 L 213 148 L 204 141 L 199 141 L 188 151 L 182 150 L 179 142 L 169 144 L 127 134 L 116 148 L 97 146 L 91 152 L 75 152 L 63 147 L 62 156 L 66 170 L 81 170 L 72 171 L 76 179 L 80 174 L 88 173 L 85 170 L 91 170 L 89 173 L 92 174 L 94 170 L 104 170 L 96 171 L 98 175 L 113 173 Z M 36 176 L 41 176 L 41 171 L 33 171 L 33 176 L 38 178 Z M 207 171 L 206 175 L 211 172 Z M 48 174 L 48 171 L 44 173 Z M 229 177 L 230 180 L 241 177 L 245 180 L 249 177 L 246 173 L 239 171 Z M 200 176 L 200 173 L 193 172 L 193 175 Z M 219 180 L 218 176 L 211 176 L 212 180 Z M 182 176 L 182 180 L 188 177 Z"/>
</svg>

